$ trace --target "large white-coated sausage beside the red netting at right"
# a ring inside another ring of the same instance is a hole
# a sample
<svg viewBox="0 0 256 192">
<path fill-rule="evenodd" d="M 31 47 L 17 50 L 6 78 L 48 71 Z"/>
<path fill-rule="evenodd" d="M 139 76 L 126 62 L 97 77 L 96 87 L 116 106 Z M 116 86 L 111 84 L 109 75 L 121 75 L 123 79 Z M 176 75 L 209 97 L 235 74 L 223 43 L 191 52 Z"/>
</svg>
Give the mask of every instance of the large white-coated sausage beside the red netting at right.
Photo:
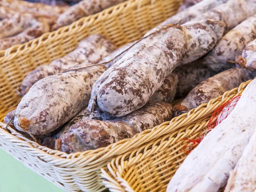
<svg viewBox="0 0 256 192">
<path fill-rule="evenodd" d="M 167 192 L 218 192 L 255 133 L 256 80 L 245 88 L 233 111 L 186 157 Z M 244 190 L 239 190 L 244 191 Z"/>
</svg>

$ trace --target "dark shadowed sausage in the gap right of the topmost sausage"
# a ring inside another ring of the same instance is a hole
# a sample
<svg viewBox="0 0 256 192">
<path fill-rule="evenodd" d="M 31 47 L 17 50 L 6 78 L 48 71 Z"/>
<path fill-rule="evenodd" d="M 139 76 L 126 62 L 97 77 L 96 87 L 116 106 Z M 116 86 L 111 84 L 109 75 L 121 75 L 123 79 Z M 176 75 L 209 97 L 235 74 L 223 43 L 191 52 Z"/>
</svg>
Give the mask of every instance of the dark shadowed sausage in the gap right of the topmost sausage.
<svg viewBox="0 0 256 192">
<path fill-rule="evenodd" d="M 217 74 L 199 60 L 179 66 L 172 73 L 178 76 L 175 98 L 185 97 L 199 83 Z"/>
</svg>

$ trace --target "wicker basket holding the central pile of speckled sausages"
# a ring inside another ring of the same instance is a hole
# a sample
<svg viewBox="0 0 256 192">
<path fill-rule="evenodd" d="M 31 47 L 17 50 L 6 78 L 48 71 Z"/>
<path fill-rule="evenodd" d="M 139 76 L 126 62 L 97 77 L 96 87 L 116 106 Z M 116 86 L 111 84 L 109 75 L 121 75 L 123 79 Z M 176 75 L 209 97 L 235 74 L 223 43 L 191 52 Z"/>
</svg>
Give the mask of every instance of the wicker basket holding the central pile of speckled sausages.
<svg viewBox="0 0 256 192">
<path fill-rule="evenodd" d="M 0 121 L 20 102 L 15 90 L 39 65 L 72 51 L 81 39 L 102 34 L 118 46 L 137 40 L 177 10 L 181 0 L 128 0 L 23 45 L 0 51 Z M 66 191 L 105 189 L 100 169 L 112 158 L 143 143 L 122 140 L 106 148 L 66 154 L 32 142 L 0 122 L 0 147 L 25 166 Z M 145 134 L 145 133 L 144 133 Z M 127 143 L 126 143 L 127 142 Z"/>
</svg>

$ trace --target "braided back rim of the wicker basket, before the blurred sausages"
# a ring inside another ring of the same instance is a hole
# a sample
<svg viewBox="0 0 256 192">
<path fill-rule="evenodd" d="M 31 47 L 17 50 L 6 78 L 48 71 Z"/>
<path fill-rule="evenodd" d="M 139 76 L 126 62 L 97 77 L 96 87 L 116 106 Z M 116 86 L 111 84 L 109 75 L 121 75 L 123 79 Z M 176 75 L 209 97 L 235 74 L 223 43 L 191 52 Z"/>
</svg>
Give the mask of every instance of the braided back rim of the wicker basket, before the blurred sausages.
<svg viewBox="0 0 256 192">
<path fill-rule="evenodd" d="M 9 47 L 8 49 L 0 50 L 0 62 L 12 60 L 24 53 L 28 54 L 29 52 L 35 50 L 36 47 L 40 47 L 42 44 L 47 43 L 47 41 L 56 41 L 57 38 L 60 38 L 60 34 L 70 33 L 69 35 L 72 35 L 75 30 L 79 31 L 82 26 L 89 26 L 92 25 L 92 23 L 99 22 L 103 18 L 112 17 L 112 15 L 116 15 L 126 8 L 131 9 L 133 6 L 140 7 L 140 4 L 142 4 L 143 1 L 146 2 L 147 0 L 127 0 L 123 3 L 119 3 L 116 6 L 104 9 L 102 12 L 96 13 L 94 15 L 89 15 L 87 17 L 82 17 L 79 20 L 73 22 L 72 24 L 68 26 L 63 26 L 56 31 L 44 33 L 40 37 L 32 39 L 24 44 L 17 44 Z M 153 3 L 154 1 L 155 0 L 153 0 Z"/>
</svg>

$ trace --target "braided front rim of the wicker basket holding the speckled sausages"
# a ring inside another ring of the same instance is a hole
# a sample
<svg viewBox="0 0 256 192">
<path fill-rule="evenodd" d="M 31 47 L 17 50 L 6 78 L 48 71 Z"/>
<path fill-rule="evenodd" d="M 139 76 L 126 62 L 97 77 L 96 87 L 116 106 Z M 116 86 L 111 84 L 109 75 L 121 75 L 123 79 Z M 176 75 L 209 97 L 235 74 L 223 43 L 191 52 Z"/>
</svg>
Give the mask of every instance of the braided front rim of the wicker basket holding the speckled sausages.
<svg viewBox="0 0 256 192">
<path fill-rule="evenodd" d="M 3 129 L 3 127 L 6 127 L 6 124 L 2 122 L 0 122 L 0 136 L 6 137 L 7 139 L 10 140 L 17 140 L 16 142 L 23 143 L 28 148 L 33 148 L 33 150 L 37 150 L 38 157 L 44 157 L 44 159 L 46 159 L 46 156 L 55 156 L 58 158 L 59 161 L 67 160 L 67 163 L 71 160 L 72 162 L 74 162 L 74 160 L 79 161 L 83 159 L 83 164 L 87 163 L 87 165 L 92 165 L 100 163 L 102 160 L 112 159 L 114 155 L 116 156 L 123 154 L 123 151 L 129 151 L 133 148 L 136 148 L 137 142 L 145 144 L 149 142 L 151 138 L 156 138 L 154 137 L 156 134 L 158 134 L 158 138 L 168 133 L 168 130 L 170 130 L 171 128 L 173 130 L 177 129 L 177 125 L 179 125 L 178 128 L 180 128 L 189 123 L 191 124 L 192 122 L 198 121 L 199 119 L 203 118 L 206 114 L 210 113 L 212 110 L 215 110 L 216 107 L 218 107 L 219 105 L 223 104 L 224 102 L 228 101 L 234 96 L 240 95 L 243 88 L 246 87 L 246 85 L 249 84 L 250 81 L 252 80 L 246 81 L 240 84 L 239 87 L 236 87 L 230 91 L 226 91 L 222 96 L 219 96 L 215 99 L 211 99 L 208 103 L 202 104 L 198 106 L 198 108 L 192 109 L 188 113 L 184 113 L 180 116 L 172 118 L 171 121 L 163 122 L 162 124 L 157 125 L 152 129 L 148 129 L 139 134 L 136 134 L 133 138 L 120 140 L 116 143 L 108 145 L 107 147 L 98 148 L 95 150 L 76 152 L 73 154 L 67 154 L 65 152 L 52 150 L 42 145 L 39 145 L 38 143 L 35 143 L 34 141 L 27 139 L 26 137 L 23 137 L 22 134 L 17 133 L 17 131 L 12 129 L 11 127 L 8 127 L 8 130 L 11 131 L 11 133 L 9 133 L 8 131 Z M 237 91 L 237 93 L 234 94 L 234 91 Z M 51 162 L 49 161 L 48 163 Z M 55 163 L 56 161 L 54 161 L 54 164 Z"/>
</svg>

